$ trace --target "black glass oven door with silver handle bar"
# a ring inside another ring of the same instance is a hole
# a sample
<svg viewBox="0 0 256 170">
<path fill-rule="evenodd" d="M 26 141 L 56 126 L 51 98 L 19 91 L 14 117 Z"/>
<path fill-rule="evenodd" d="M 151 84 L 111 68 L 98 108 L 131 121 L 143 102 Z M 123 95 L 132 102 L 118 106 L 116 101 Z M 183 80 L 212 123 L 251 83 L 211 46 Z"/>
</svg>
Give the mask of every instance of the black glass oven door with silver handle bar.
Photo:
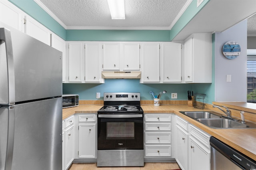
<svg viewBox="0 0 256 170">
<path fill-rule="evenodd" d="M 143 114 L 98 114 L 98 150 L 143 149 Z"/>
</svg>

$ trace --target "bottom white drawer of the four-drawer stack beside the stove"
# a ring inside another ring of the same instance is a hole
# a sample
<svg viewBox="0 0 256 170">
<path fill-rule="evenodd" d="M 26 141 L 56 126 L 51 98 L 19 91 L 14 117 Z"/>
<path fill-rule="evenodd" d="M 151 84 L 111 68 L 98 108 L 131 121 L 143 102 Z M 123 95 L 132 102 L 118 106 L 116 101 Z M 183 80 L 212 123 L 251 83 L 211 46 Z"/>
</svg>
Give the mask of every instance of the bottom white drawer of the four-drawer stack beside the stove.
<svg viewBox="0 0 256 170">
<path fill-rule="evenodd" d="M 145 146 L 145 156 L 171 156 L 171 146 Z"/>
</svg>

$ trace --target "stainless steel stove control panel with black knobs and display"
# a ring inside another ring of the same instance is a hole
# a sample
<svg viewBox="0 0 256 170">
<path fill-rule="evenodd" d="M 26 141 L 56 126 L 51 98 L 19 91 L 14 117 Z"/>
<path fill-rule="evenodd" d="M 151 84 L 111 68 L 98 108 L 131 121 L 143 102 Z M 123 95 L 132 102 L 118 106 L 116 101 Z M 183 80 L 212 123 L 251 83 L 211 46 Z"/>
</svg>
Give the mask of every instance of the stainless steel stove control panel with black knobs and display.
<svg viewBox="0 0 256 170">
<path fill-rule="evenodd" d="M 104 101 L 140 101 L 140 93 L 104 93 Z"/>
</svg>

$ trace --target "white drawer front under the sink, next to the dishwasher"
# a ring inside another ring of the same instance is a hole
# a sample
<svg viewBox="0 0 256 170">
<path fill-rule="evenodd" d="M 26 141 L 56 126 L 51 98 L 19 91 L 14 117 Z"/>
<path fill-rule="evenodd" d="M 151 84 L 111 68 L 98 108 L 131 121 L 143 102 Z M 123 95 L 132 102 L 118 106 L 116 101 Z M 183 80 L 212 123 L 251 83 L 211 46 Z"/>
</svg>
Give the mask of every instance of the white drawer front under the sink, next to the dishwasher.
<svg viewBox="0 0 256 170">
<path fill-rule="evenodd" d="M 194 140 L 199 141 L 206 147 L 210 148 L 210 135 L 208 135 L 207 133 L 194 127 L 193 125 L 190 125 L 190 135 L 192 138 L 194 137 Z"/>
</svg>

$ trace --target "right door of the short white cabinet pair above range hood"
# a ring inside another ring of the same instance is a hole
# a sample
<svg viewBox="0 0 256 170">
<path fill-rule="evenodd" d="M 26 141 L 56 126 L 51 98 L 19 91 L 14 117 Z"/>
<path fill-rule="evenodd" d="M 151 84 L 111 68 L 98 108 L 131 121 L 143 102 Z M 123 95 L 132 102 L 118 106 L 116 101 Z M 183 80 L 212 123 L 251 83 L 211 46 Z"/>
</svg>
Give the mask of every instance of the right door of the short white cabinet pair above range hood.
<svg viewBox="0 0 256 170">
<path fill-rule="evenodd" d="M 140 44 L 124 43 L 123 70 L 140 70 Z"/>
</svg>

